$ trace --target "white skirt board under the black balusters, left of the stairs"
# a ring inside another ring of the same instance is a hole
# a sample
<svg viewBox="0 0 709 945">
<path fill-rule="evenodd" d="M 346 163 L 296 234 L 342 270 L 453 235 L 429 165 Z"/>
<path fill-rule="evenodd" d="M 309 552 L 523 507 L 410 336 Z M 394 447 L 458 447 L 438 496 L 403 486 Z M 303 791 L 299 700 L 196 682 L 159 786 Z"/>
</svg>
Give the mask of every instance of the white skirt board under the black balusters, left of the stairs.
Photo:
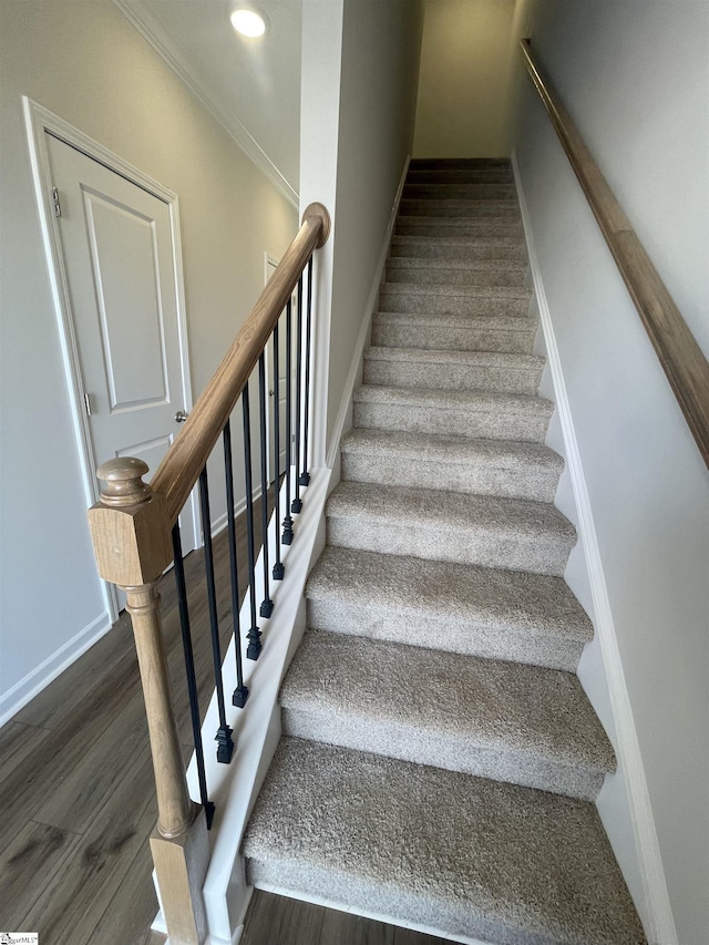
<svg viewBox="0 0 709 945">
<path fill-rule="evenodd" d="M 291 483 L 295 471 L 290 469 Z M 280 738 L 280 708 L 278 690 L 288 664 L 305 629 L 304 588 L 306 578 L 323 544 L 323 509 L 331 472 L 328 469 L 310 471 L 310 484 L 301 490 L 302 511 L 294 515 L 294 542 L 281 545 L 281 559 L 286 567 L 284 581 L 274 581 L 270 594 L 274 613 L 269 619 L 258 618 L 263 650 L 257 660 L 246 659 L 246 634 L 250 627 L 250 604 L 247 589 L 242 605 L 242 651 L 244 654 L 244 682 L 248 699 L 244 709 L 232 706 L 236 688 L 236 657 L 234 640 L 224 655 L 224 695 L 227 723 L 234 729 L 234 756 L 230 764 L 216 760 L 214 733 L 219 727 L 216 696 L 213 696 L 202 727 L 205 746 L 205 768 L 209 799 L 216 812 L 209 841 L 212 857 L 204 884 L 207 926 L 212 945 L 230 945 L 238 942 L 251 890 L 247 886 L 243 857 L 239 853 L 242 835 L 251 807 L 256 800 L 276 746 Z M 295 485 L 291 485 L 295 490 Z M 295 493 L 294 493 L 295 494 Z M 268 526 L 269 562 L 275 561 L 276 528 L 286 514 L 285 483 L 279 495 L 278 514 L 271 515 Z M 258 606 L 264 598 L 263 548 L 256 563 L 256 596 Z M 196 763 L 193 757 L 187 781 L 194 800 L 199 800 Z M 166 932 L 158 913 L 153 928 Z"/>
</svg>

